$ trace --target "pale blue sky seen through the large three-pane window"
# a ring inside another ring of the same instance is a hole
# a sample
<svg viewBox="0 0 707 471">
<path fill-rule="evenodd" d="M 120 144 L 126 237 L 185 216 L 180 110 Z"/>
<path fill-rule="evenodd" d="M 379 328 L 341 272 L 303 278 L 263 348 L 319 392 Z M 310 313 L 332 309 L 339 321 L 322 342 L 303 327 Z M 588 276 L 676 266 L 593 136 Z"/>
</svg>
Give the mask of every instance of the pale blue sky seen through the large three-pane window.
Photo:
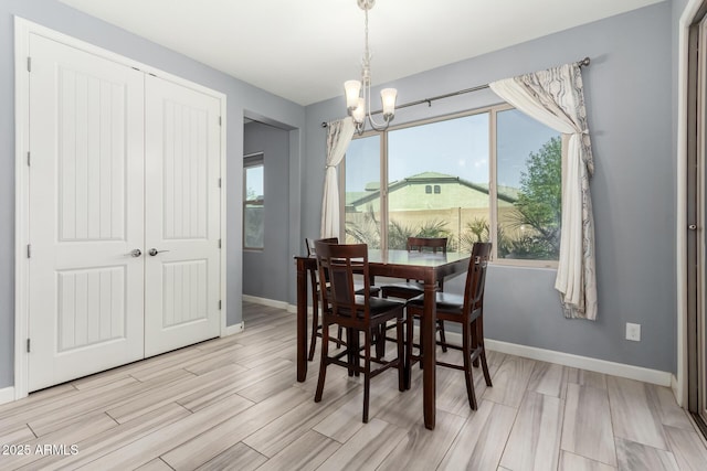
<svg viewBox="0 0 707 471">
<path fill-rule="evenodd" d="M 457 175 L 474 183 L 489 181 L 489 114 L 465 116 L 389 131 L 389 182 L 423 172 Z M 500 111 L 498 185 L 519 186 L 530 152 L 537 152 L 556 131 L 515 109 Z M 354 139 L 347 150 L 347 192 L 363 191 L 380 180 L 380 135 Z"/>
</svg>

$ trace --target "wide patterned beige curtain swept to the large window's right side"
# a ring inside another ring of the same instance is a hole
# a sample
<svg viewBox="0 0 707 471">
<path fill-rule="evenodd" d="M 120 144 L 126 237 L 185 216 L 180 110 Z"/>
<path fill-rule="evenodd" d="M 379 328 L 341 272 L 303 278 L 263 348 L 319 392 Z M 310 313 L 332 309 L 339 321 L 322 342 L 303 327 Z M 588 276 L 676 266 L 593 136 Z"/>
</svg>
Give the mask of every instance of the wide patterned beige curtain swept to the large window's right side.
<svg viewBox="0 0 707 471">
<path fill-rule="evenodd" d="M 555 288 L 567 318 L 595 320 L 594 218 L 589 191 L 594 163 L 580 66 L 566 64 L 489 86 L 518 110 L 562 133 L 562 227 Z"/>
</svg>

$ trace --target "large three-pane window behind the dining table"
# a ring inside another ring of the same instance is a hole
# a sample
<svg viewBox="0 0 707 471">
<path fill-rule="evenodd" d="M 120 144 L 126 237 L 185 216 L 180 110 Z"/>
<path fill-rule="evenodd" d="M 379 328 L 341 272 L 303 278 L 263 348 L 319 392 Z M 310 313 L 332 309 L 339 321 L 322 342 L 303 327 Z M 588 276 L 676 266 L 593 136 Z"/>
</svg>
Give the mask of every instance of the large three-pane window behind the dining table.
<svg viewBox="0 0 707 471">
<path fill-rule="evenodd" d="M 446 236 L 455 250 L 494 240 L 502 263 L 556 265 L 560 156 L 558 132 L 507 105 L 365 133 L 344 163 L 346 240 L 404 248 L 409 236 Z"/>
</svg>

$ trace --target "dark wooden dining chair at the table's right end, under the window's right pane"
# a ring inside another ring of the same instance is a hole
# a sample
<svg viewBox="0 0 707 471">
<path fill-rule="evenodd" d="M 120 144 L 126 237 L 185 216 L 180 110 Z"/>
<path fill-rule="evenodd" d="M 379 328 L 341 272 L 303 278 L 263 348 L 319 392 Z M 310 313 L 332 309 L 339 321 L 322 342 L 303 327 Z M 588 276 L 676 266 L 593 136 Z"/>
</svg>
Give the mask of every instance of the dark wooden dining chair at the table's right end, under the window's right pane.
<svg viewBox="0 0 707 471">
<path fill-rule="evenodd" d="M 469 267 L 466 272 L 466 282 L 464 286 L 464 296 L 436 292 L 435 303 L 437 319 L 444 322 L 455 322 L 462 325 L 462 345 L 446 343 L 446 346 L 453 350 L 461 350 L 463 355 L 463 364 L 457 365 L 437 361 L 440 366 L 446 366 L 455 370 L 463 370 L 466 379 L 466 395 L 472 410 L 476 410 L 476 395 L 474 394 L 474 378 L 472 367 L 478 365 L 481 360 L 484 379 L 487 386 L 492 386 L 490 375 L 488 373 L 488 364 L 486 363 L 486 350 L 484 347 L 484 287 L 486 283 L 486 267 L 490 256 L 490 243 L 475 243 L 472 248 L 472 257 Z M 414 319 L 423 315 L 424 297 L 418 296 L 408 300 L 408 341 L 407 357 L 409 365 L 420 361 L 422 349 L 420 345 L 419 354 L 413 355 L 413 335 L 412 329 Z M 437 342 L 442 344 L 442 342 Z M 410 384 L 407 385 L 408 387 Z"/>
</svg>

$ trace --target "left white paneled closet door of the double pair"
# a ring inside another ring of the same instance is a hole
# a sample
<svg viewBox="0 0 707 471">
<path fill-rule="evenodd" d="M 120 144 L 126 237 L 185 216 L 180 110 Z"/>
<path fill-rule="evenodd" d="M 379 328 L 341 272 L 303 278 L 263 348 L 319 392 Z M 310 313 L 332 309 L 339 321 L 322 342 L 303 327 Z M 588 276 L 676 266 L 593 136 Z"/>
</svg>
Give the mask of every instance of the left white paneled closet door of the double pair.
<svg viewBox="0 0 707 471">
<path fill-rule="evenodd" d="M 144 75 L 30 38 L 29 390 L 144 356 Z"/>
</svg>

